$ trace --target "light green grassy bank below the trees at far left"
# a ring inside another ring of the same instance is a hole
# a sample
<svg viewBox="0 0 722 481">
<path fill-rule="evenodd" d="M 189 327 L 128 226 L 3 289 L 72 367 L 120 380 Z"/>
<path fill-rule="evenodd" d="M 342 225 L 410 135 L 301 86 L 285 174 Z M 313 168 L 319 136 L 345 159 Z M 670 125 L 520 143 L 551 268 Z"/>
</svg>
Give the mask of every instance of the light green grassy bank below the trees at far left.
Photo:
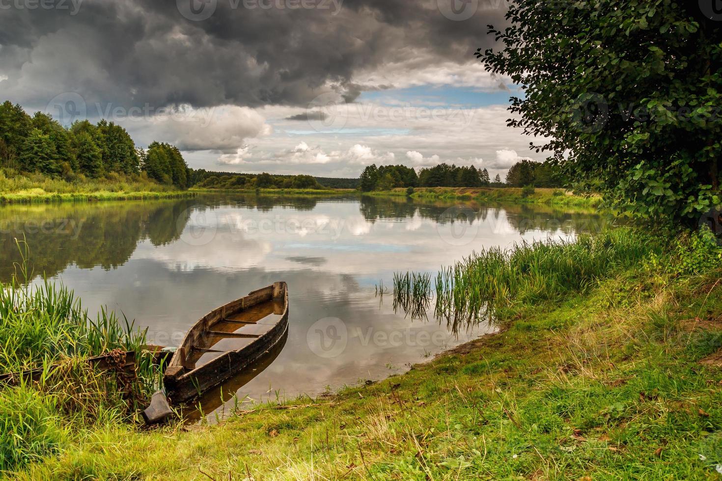
<svg viewBox="0 0 722 481">
<path fill-rule="evenodd" d="M 0 203 L 141 200 L 193 195 L 196 194 L 161 185 L 143 175 L 112 174 L 102 179 L 77 176 L 69 182 L 40 174 L 14 175 L 0 170 Z"/>
</svg>

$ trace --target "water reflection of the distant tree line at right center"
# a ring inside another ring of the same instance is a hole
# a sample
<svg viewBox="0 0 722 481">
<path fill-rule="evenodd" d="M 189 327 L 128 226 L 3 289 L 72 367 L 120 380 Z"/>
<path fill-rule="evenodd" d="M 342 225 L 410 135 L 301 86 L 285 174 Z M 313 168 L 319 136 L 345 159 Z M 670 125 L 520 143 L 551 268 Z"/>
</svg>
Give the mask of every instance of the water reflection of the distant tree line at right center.
<svg viewBox="0 0 722 481">
<path fill-rule="evenodd" d="M 510 204 L 503 207 L 482 206 L 478 203 L 450 203 L 419 201 L 409 198 L 362 196 L 360 211 L 364 219 L 375 222 L 381 219 L 410 219 L 419 216 L 438 224 L 474 221 L 503 221 L 521 234 L 527 231 L 562 231 L 573 234 L 582 231 L 599 231 L 608 221 L 594 211 L 568 211 L 544 205 Z"/>
</svg>

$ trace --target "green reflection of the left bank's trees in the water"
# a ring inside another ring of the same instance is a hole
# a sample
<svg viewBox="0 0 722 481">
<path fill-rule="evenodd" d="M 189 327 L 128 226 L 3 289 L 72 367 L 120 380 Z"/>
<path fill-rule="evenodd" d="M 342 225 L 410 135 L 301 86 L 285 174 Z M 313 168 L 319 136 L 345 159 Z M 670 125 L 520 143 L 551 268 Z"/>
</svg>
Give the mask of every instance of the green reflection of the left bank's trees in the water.
<svg viewBox="0 0 722 481">
<path fill-rule="evenodd" d="M 68 265 L 105 270 L 127 262 L 138 242 L 177 240 L 195 200 L 65 203 L 0 209 L 0 281 L 21 260 L 14 239 L 26 239 L 35 274 L 56 275 Z"/>
</svg>

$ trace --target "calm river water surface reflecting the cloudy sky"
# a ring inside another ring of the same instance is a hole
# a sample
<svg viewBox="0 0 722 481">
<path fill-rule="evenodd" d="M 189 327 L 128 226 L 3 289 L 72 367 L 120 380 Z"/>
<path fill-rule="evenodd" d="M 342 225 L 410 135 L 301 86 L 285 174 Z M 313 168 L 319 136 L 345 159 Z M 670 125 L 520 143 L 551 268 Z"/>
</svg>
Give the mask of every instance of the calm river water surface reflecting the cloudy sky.
<svg viewBox="0 0 722 481">
<path fill-rule="evenodd" d="M 286 343 L 225 387 L 253 400 L 314 395 L 380 379 L 491 328 L 452 335 L 445 322 L 394 312 L 395 271 L 428 271 L 474 250 L 599 226 L 590 213 L 547 207 L 414 203 L 404 198 L 186 200 L 0 208 L 0 279 L 30 244 L 35 274 L 74 289 L 91 312 L 108 306 L 149 340 L 178 345 L 199 317 L 274 281 L 290 289 Z M 35 280 L 38 281 L 38 278 Z M 219 391 L 204 400 L 220 404 Z"/>
</svg>

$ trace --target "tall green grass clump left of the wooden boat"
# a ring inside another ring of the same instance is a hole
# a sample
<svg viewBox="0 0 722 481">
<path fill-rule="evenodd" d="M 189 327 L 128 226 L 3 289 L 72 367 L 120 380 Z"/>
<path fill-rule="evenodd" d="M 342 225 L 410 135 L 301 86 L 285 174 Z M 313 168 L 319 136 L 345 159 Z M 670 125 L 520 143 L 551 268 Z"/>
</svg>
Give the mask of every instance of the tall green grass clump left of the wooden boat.
<svg viewBox="0 0 722 481">
<path fill-rule="evenodd" d="M 160 383 L 143 350 L 146 332 L 102 309 L 90 317 L 62 285 L 29 283 L 24 261 L 0 286 L 0 470 L 15 469 L 62 449 L 63 433 L 136 417 Z M 94 369 L 92 356 L 134 351 L 136 369 Z"/>
</svg>

